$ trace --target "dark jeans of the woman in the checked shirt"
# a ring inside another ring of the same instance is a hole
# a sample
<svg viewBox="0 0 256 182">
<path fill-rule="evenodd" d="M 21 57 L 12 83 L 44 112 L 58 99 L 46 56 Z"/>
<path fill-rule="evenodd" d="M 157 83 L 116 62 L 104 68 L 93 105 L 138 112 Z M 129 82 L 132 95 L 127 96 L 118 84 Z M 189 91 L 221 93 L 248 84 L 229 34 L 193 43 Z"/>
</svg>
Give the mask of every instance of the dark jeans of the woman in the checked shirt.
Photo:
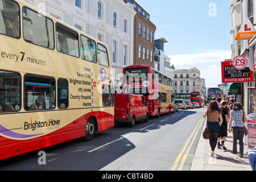
<svg viewBox="0 0 256 182">
<path fill-rule="evenodd" d="M 233 132 L 233 152 L 237 152 L 237 139 L 239 140 L 239 155 L 243 155 L 243 135 L 245 135 L 244 127 L 232 127 Z"/>
</svg>

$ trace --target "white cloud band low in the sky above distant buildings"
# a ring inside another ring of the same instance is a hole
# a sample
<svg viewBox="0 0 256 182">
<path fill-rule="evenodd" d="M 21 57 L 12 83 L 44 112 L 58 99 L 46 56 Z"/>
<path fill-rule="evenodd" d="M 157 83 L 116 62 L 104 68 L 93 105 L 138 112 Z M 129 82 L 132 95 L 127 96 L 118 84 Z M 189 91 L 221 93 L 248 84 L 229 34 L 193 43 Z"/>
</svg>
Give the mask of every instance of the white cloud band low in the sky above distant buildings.
<svg viewBox="0 0 256 182">
<path fill-rule="evenodd" d="M 196 67 L 200 70 L 201 78 L 205 78 L 206 86 L 216 87 L 222 83 L 221 62 L 225 59 L 231 59 L 231 51 L 209 49 L 201 49 L 200 51 L 187 55 L 169 56 L 171 65 L 174 65 L 175 69 Z"/>
</svg>

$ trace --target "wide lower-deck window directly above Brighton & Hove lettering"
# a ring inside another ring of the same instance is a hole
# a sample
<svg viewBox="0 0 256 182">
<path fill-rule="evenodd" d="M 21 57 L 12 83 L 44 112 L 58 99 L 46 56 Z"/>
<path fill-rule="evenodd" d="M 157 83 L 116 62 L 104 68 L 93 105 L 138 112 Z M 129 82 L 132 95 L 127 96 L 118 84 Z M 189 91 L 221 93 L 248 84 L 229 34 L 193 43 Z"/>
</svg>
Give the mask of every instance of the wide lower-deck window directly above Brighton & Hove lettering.
<svg viewBox="0 0 256 182">
<path fill-rule="evenodd" d="M 55 79 L 26 75 L 24 107 L 26 110 L 55 109 Z"/>
</svg>

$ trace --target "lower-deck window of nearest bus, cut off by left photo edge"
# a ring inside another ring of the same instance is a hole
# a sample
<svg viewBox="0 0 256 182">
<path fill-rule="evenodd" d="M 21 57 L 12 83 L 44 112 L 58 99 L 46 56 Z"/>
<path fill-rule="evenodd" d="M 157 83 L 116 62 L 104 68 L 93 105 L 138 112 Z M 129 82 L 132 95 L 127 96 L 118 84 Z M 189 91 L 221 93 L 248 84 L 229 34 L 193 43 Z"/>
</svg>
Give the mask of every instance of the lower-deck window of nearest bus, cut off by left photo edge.
<svg viewBox="0 0 256 182">
<path fill-rule="evenodd" d="M 0 112 L 20 109 L 20 75 L 0 71 Z"/>
</svg>

